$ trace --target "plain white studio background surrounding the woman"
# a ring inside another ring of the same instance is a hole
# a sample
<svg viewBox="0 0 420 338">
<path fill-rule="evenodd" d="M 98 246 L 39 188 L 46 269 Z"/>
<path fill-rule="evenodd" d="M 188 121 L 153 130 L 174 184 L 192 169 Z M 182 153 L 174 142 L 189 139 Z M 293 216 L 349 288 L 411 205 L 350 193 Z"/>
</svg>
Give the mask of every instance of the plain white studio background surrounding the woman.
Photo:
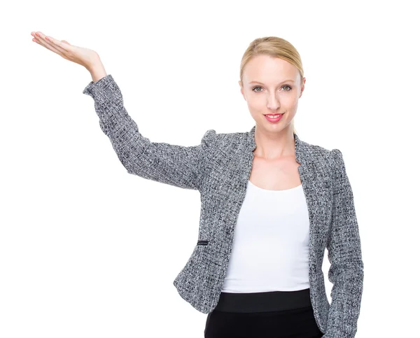
<svg viewBox="0 0 420 338">
<path fill-rule="evenodd" d="M 307 78 L 303 141 L 342 150 L 365 283 L 356 337 L 414 337 L 419 293 L 415 1 L 36 1 L 1 12 L 0 337 L 204 337 L 172 282 L 200 194 L 127 174 L 99 128 L 92 78 L 31 31 L 96 50 L 151 141 L 254 125 L 239 63 L 279 36 Z M 3 8 L 5 9 L 5 8 Z M 329 262 L 323 265 L 327 294 Z"/>
</svg>

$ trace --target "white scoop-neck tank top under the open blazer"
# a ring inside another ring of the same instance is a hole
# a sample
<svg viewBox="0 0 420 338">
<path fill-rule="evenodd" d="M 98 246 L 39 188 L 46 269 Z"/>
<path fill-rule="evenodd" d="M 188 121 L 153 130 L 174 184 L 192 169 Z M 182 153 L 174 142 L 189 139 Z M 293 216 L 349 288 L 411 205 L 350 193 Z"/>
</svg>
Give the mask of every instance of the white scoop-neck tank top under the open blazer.
<svg viewBox="0 0 420 338">
<path fill-rule="evenodd" d="M 248 181 L 222 292 L 309 288 L 309 213 L 302 185 L 258 188 Z"/>
</svg>

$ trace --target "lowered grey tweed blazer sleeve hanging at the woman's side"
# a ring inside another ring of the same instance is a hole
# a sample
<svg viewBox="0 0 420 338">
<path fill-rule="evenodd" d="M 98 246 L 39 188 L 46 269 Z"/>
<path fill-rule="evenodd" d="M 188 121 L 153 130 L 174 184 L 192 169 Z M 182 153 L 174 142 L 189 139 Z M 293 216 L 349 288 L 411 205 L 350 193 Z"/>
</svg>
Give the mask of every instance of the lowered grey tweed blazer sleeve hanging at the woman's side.
<svg viewBox="0 0 420 338">
<path fill-rule="evenodd" d="M 332 227 L 327 242 L 328 280 L 333 284 L 324 338 L 353 338 L 363 293 L 363 261 L 353 192 L 343 155 L 332 149 L 335 167 Z"/>
</svg>

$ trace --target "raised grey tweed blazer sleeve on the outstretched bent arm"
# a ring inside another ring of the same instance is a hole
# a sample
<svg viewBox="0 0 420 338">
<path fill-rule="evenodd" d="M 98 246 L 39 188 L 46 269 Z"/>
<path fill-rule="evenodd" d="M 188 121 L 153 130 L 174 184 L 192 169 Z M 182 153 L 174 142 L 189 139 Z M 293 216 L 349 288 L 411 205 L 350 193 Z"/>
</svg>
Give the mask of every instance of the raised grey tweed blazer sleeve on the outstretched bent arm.
<svg viewBox="0 0 420 338">
<path fill-rule="evenodd" d="M 123 95 L 111 74 L 91 81 L 83 94 L 94 99 L 99 125 L 129 174 L 200 190 L 205 153 L 216 136 L 214 129 L 207 130 L 197 146 L 151 142 L 125 110 Z"/>
</svg>

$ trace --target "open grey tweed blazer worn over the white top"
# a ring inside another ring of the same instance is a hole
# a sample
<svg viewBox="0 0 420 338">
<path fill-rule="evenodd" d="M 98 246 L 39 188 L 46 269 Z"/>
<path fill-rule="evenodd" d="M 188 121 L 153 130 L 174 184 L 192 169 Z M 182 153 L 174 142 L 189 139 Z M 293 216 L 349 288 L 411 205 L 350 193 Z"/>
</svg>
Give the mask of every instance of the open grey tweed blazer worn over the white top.
<svg viewBox="0 0 420 338">
<path fill-rule="evenodd" d="M 255 149 L 250 132 L 209 129 L 197 146 L 151 142 L 127 114 L 123 95 L 109 74 L 90 82 L 99 125 L 129 174 L 199 190 L 200 230 L 188 262 L 174 280 L 179 295 L 209 314 L 218 303 L 228 267 L 235 223 L 246 195 Z M 356 335 L 363 292 L 363 261 L 353 192 L 342 153 L 295 137 L 295 157 L 309 210 L 309 285 L 316 323 L 324 338 Z M 322 271 L 328 250 L 331 304 Z"/>
</svg>

